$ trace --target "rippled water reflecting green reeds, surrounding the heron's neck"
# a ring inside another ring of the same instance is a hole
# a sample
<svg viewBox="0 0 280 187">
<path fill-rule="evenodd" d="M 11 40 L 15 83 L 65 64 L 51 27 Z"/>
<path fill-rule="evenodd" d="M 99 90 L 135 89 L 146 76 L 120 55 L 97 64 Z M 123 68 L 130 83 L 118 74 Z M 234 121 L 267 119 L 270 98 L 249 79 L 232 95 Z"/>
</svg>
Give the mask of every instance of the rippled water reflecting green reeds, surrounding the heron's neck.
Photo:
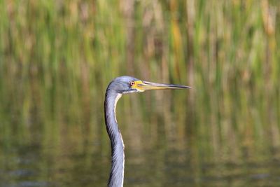
<svg viewBox="0 0 280 187">
<path fill-rule="evenodd" d="M 276 123 L 207 113 L 207 106 L 192 107 L 179 92 L 154 103 L 149 98 L 125 96 L 118 104 L 125 186 L 280 185 Z M 67 107 L 56 120 L 39 111 L 23 122 L 16 113 L 2 113 L 0 186 L 106 186 L 111 148 L 102 104 L 92 106 L 91 118 L 81 111 L 83 120 L 65 117 Z"/>
</svg>

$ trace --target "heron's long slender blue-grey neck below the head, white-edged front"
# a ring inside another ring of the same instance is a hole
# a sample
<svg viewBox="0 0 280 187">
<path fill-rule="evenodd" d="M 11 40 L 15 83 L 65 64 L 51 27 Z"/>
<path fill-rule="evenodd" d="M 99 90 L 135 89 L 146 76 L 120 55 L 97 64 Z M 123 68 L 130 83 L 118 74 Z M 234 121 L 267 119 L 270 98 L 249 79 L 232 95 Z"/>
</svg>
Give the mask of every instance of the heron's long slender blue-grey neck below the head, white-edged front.
<svg viewBox="0 0 280 187">
<path fill-rule="evenodd" d="M 104 102 L 106 130 L 111 140 L 111 173 L 108 186 L 123 186 L 123 176 L 125 169 L 125 152 L 123 138 L 118 129 L 116 120 L 116 104 L 122 95 L 111 90 L 106 91 Z"/>
</svg>

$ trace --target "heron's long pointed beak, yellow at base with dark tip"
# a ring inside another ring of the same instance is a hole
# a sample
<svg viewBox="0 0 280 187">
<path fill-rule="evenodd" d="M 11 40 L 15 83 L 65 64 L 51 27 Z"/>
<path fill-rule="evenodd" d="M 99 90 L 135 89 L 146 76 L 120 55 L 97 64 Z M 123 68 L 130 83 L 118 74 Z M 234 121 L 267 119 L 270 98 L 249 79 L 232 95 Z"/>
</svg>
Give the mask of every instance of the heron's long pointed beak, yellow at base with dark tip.
<svg viewBox="0 0 280 187">
<path fill-rule="evenodd" d="M 171 90 L 171 89 L 187 89 L 190 86 L 186 85 L 172 85 L 165 83 L 151 83 L 148 81 L 135 81 L 135 88 L 141 91 L 145 90 Z"/>
</svg>

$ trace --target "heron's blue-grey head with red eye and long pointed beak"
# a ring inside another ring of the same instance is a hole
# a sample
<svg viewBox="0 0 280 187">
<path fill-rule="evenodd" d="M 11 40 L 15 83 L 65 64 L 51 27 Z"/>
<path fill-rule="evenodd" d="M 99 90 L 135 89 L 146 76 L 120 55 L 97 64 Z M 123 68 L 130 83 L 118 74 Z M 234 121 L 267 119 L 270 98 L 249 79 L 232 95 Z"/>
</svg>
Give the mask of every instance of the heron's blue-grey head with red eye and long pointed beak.
<svg viewBox="0 0 280 187">
<path fill-rule="evenodd" d="M 144 92 L 146 90 L 186 89 L 190 87 L 186 85 L 151 83 L 148 81 L 141 81 L 132 76 L 120 76 L 111 82 L 109 88 L 120 94 L 126 94 L 132 92 Z"/>
</svg>

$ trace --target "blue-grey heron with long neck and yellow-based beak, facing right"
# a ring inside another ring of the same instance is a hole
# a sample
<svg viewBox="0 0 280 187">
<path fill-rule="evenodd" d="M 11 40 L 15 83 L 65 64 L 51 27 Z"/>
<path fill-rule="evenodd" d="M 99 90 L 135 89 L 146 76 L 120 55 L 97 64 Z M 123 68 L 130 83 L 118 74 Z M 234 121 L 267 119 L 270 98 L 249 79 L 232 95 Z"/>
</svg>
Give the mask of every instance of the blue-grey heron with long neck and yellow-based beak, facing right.
<svg viewBox="0 0 280 187">
<path fill-rule="evenodd" d="M 116 118 L 116 105 L 118 99 L 124 94 L 133 92 L 144 92 L 146 90 L 186 89 L 186 85 L 172 85 L 166 83 L 151 83 L 141 81 L 132 76 L 120 76 L 106 89 L 104 113 L 106 130 L 111 141 L 111 172 L 109 176 L 109 187 L 123 187 L 125 172 L 125 144 L 118 127 Z"/>
</svg>

